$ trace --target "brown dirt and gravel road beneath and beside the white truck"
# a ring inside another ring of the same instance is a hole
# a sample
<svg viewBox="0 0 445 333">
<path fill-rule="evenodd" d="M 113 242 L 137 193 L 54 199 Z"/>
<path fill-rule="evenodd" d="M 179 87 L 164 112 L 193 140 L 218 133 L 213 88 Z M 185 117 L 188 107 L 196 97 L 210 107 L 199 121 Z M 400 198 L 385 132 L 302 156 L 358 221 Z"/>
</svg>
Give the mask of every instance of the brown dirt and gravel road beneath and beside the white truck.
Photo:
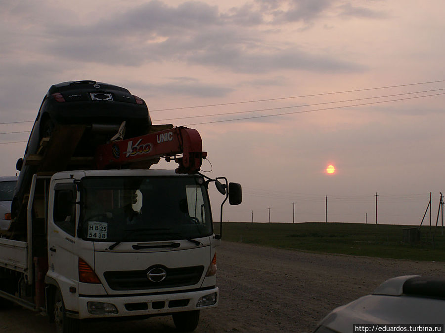
<svg viewBox="0 0 445 333">
<path fill-rule="evenodd" d="M 218 248 L 219 307 L 201 312 L 196 333 L 310 333 L 338 305 L 398 275 L 445 276 L 445 262 L 312 254 L 223 242 Z M 177 332 L 171 317 L 82 323 L 81 332 Z M 0 313 L 1 333 L 55 332 L 47 318 L 14 307 Z"/>
</svg>

